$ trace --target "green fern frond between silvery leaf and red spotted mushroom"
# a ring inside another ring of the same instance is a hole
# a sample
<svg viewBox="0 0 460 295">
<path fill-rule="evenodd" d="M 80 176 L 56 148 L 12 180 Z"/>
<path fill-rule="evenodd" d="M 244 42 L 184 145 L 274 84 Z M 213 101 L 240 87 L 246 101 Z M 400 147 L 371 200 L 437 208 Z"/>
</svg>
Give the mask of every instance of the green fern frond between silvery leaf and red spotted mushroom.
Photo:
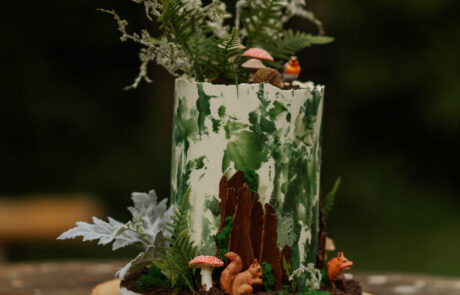
<svg viewBox="0 0 460 295">
<path fill-rule="evenodd" d="M 195 293 L 198 273 L 188 263 L 197 256 L 198 248 L 188 232 L 189 195 L 190 190 L 185 194 L 182 204 L 176 208 L 172 222 L 165 227 L 170 234 L 166 239 L 168 246 L 162 249 L 161 257 L 154 264 L 164 271 L 173 288 L 188 288 Z"/>
</svg>

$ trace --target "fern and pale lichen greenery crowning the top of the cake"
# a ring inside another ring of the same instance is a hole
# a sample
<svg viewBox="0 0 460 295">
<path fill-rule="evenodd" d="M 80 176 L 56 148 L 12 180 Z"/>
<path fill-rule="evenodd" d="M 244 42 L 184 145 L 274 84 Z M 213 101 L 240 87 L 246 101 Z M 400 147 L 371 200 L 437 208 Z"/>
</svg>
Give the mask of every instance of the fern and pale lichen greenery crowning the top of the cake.
<svg viewBox="0 0 460 295">
<path fill-rule="evenodd" d="M 194 81 L 247 82 L 250 70 L 242 66 L 245 48 L 260 48 L 273 56 L 267 65 L 281 69 L 292 55 L 314 44 L 331 42 L 322 23 L 306 10 L 305 0 L 133 0 L 143 4 L 147 18 L 158 24 L 159 36 L 148 30 L 128 33 L 128 22 L 114 10 L 121 40 L 142 45 L 135 88 L 148 78 L 148 64 L 156 62 L 169 73 Z M 317 34 L 284 28 L 293 17 L 312 22 Z M 300 69 L 300 68 L 299 68 Z"/>
</svg>

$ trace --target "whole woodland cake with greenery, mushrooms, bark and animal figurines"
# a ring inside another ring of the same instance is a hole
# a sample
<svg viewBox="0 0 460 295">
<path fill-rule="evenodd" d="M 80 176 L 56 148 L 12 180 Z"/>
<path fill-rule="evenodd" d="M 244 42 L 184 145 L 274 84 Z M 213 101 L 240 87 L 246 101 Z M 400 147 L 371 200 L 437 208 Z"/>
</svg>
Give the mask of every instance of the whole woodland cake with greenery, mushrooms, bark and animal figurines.
<svg viewBox="0 0 460 295">
<path fill-rule="evenodd" d="M 299 82 L 295 54 L 326 44 L 304 0 L 134 0 L 161 34 L 122 41 L 176 76 L 171 192 L 133 193 L 132 219 L 78 222 L 83 237 L 141 249 L 120 269 L 120 294 L 361 294 L 334 250 L 326 218 L 340 179 L 320 195 L 324 86 Z M 318 34 L 292 31 L 293 17 Z"/>
</svg>

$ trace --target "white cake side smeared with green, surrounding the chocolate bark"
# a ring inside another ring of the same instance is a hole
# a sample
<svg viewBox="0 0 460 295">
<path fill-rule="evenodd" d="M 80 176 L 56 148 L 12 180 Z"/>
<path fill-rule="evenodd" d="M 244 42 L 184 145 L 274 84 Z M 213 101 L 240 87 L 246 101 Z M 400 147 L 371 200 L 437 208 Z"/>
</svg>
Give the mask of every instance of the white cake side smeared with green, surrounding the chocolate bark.
<svg viewBox="0 0 460 295">
<path fill-rule="evenodd" d="M 219 181 L 243 170 L 260 201 L 275 208 L 279 248 L 293 248 L 294 265 L 312 260 L 322 98 L 320 87 L 283 91 L 268 84 L 176 81 L 172 199 L 180 202 L 191 189 L 190 231 L 203 254 L 215 253 Z"/>
</svg>

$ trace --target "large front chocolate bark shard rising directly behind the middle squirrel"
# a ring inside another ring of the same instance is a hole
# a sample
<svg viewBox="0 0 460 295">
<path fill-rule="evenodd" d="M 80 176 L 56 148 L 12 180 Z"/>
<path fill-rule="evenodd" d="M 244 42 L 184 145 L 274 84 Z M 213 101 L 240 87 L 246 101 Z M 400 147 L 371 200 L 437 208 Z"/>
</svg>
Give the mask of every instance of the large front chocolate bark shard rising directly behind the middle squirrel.
<svg viewBox="0 0 460 295">
<path fill-rule="evenodd" d="M 229 251 L 237 253 L 243 260 L 243 269 L 247 269 L 254 260 L 251 245 L 252 193 L 243 185 L 237 193 L 237 204 L 230 231 Z"/>
</svg>

